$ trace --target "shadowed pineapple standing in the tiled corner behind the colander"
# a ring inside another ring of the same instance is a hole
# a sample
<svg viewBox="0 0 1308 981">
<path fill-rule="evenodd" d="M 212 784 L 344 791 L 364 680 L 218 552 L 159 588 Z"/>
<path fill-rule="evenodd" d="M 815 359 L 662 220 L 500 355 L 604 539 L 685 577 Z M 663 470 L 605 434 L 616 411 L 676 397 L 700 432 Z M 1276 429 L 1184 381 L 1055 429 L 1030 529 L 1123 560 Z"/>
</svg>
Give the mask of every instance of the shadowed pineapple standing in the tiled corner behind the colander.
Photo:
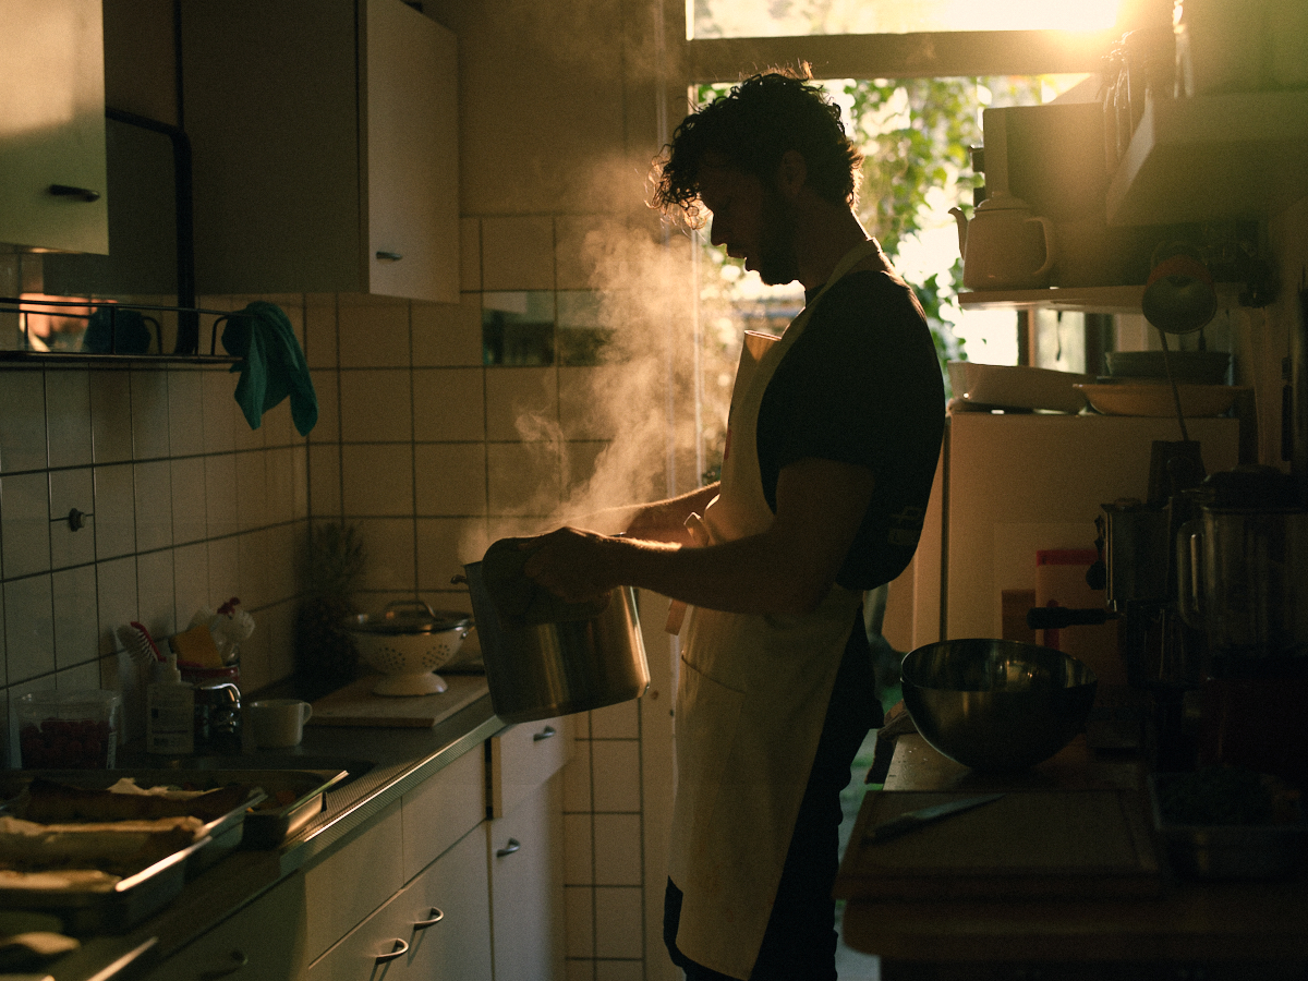
<svg viewBox="0 0 1308 981">
<path fill-rule="evenodd" d="M 313 700 L 354 680 L 358 649 L 347 629 L 358 613 L 351 594 L 364 569 L 353 525 L 311 525 L 306 593 L 296 615 L 296 687 Z"/>
</svg>

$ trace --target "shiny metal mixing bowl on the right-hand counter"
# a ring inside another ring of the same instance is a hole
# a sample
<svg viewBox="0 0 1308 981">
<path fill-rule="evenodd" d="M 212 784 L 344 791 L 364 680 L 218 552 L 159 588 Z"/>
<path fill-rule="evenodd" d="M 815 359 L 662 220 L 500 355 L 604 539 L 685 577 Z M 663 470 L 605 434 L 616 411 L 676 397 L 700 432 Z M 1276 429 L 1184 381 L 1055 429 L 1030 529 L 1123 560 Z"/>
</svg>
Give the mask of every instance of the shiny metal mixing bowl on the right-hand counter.
<svg viewBox="0 0 1308 981">
<path fill-rule="evenodd" d="M 927 644 L 904 655 L 904 705 L 955 763 L 1023 770 L 1084 729 L 1097 680 L 1052 647 L 998 640 Z"/>
</svg>

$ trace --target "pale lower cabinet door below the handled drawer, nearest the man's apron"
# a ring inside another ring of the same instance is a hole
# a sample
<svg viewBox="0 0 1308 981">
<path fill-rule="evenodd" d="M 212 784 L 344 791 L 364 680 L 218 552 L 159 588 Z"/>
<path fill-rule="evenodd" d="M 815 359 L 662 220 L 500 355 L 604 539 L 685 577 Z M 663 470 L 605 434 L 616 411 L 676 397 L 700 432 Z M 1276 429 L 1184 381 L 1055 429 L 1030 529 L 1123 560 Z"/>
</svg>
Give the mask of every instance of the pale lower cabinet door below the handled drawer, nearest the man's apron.
<svg viewBox="0 0 1308 981">
<path fill-rule="evenodd" d="M 562 778 L 487 823 L 494 981 L 561 981 Z"/>
</svg>

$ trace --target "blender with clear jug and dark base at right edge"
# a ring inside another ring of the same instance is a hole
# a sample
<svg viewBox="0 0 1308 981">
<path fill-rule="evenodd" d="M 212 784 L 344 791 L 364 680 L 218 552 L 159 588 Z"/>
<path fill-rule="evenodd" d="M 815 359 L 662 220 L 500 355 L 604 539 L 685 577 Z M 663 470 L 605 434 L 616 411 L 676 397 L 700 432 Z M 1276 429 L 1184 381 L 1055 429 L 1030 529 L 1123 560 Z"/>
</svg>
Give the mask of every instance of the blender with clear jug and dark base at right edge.
<svg viewBox="0 0 1308 981">
<path fill-rule="evenodd" d="M 1308 786 L 1308 511 L 1278 497 L 1203 506 L 1179 534 L 1177 586 L 1207 636 L 1199 763 Z"/>
</svg>

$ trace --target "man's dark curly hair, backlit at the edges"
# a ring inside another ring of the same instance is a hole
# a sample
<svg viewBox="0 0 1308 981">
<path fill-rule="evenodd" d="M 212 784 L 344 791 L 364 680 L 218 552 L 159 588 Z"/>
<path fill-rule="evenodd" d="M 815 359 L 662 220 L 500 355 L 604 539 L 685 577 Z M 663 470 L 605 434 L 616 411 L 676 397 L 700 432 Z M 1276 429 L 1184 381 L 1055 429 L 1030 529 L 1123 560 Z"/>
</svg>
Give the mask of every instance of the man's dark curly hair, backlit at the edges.
<svg viewBox="0 0 1308 981">
<path fill-rule="evenodd" d="M 700 228 L 698 173 L 706 154 L 770 183 L 787 150 L 803 156 L 806 184 L 819 198 L 853 205 L 863 154 L 845 135 L 840 107 L 811 82 L 807 63 L 760 72 L 688 115 L 654 161 L 650 207 Z"/>
</svg>

